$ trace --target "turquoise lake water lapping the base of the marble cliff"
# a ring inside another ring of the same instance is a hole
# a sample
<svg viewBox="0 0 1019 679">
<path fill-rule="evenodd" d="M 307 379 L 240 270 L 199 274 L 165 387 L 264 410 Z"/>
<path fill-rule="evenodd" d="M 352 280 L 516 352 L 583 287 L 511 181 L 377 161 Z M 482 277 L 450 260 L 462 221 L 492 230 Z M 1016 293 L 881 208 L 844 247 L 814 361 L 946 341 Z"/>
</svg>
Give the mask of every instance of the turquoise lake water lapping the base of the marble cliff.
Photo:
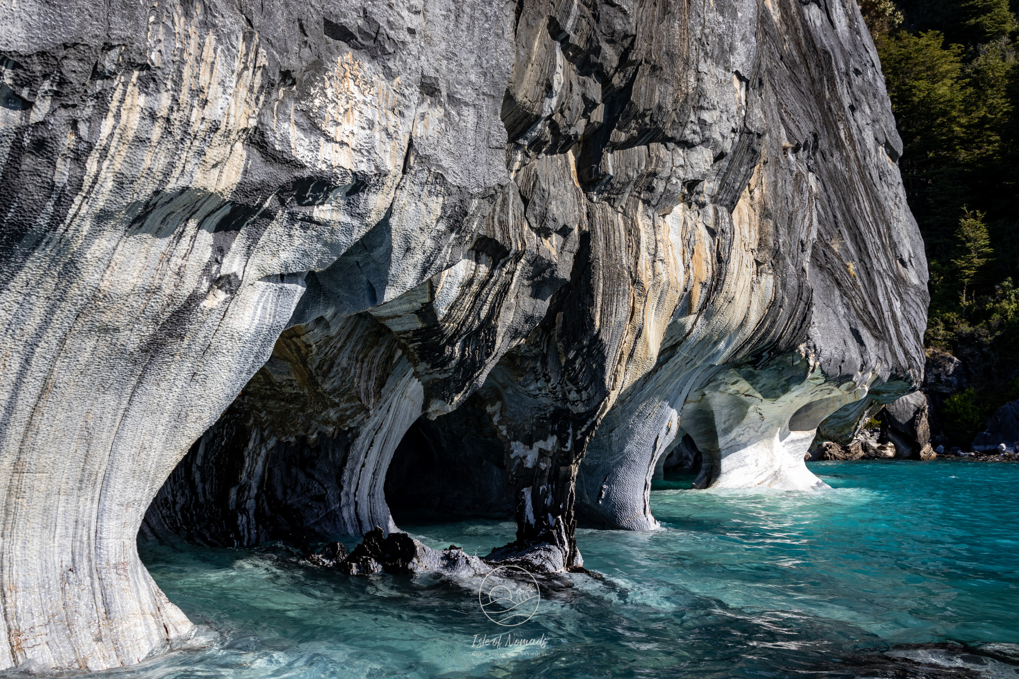
<svg viewBox="0 0 1019 679">
<path fill-rule="evenodd" d="M 205 625 L 210 645 L 111 674 L 891 676 L 873 674 L 867 659 L 910 643 L 1019 642 L 1019 464 L 811 469 L 834 490 L 684 491 L 666 482 L 651 500 L 662 530 L 579 530 L 585 565 L 602 577 L 540 580 L 537 613 L 511 630 L 537 643 L 508 649 L 504 636 L 500 648 L 478 643 L 507 631 L 485 618 L 478 582 L 351 578 L 279 548 L 146 543 L 153 577 Z M 396 518 L 432 547 L 479 555 L 514 534 L 506 521 Z"/>
</svg>

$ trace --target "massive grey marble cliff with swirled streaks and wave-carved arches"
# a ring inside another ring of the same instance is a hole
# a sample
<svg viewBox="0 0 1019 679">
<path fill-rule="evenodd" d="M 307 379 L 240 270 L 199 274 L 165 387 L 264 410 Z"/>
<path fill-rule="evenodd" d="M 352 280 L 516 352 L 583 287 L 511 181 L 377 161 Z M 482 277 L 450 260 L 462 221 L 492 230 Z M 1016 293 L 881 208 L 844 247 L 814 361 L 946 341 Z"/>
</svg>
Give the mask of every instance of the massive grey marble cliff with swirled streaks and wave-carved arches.
<svg viewBox="0 0 1019 679">
<path fill-rule="evenodd" d="M 0 668 L 189 633 L 144 516 L 392 529 L 412 427 L 560 570 L 578 512 L 655 525 L 684 434 L 701 486 L 810 488 L 821 420 L 922 378 L 852 0 L 79 9 L 0 9 Z"/>
</svg>

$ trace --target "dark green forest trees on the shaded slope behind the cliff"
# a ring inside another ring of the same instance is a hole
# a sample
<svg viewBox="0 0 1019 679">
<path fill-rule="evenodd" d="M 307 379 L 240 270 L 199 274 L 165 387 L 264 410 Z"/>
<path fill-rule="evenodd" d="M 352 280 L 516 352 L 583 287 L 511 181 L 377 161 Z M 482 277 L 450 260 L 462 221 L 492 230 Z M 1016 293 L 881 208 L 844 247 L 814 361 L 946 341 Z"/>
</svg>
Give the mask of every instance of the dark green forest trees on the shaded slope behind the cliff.
<svg viewBox="0 0 1019 679">
<path fill-rule="evenodd" d="M 930 271 L 925 344 L 963 360 L 967 446 L 1019 374 L 1019 0 L 861 0 Z M 956 414 L 959 416 L 956 417 Z M 958 419 L 959 421 L 956 421 Z"/>
</svg>

